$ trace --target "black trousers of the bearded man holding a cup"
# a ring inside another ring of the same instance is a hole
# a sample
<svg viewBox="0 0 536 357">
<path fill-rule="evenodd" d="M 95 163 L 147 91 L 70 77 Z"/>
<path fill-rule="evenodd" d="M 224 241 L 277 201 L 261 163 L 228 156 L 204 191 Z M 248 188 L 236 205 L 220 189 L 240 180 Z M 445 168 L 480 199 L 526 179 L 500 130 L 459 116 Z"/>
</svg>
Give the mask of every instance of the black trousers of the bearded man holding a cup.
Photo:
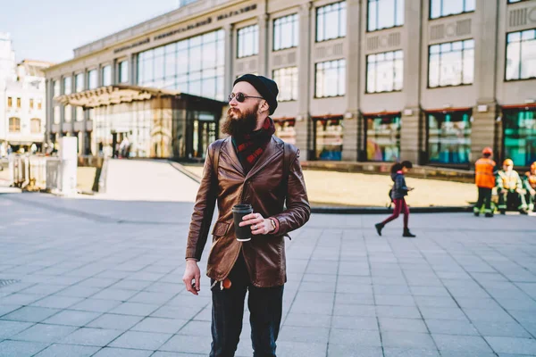
<svg viewBox="0 0 536 357">
<path fill-rule="evenodd" d="M 212 288 L 213 343 L 210 357 L 234 356 L 239 345 L 246 292 L 251 325 L 251 342 L 254 357 L 275 357 L 275 341 L 279 335 L 283 305 L 283 286 L 256 287 L 247 274 L 246 262 L 240 253 L 230 270 L 229 289 L 220 283 Z M 211 281 L 211 285 L 214 280 Z"/>
</svg>

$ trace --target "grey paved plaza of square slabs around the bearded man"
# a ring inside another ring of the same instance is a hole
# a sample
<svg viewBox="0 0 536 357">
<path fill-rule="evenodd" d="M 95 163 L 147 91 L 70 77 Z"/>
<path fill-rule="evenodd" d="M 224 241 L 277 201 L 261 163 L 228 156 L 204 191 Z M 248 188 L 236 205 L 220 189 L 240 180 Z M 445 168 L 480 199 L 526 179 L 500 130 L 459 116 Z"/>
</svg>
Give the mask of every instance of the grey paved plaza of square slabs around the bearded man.
<svg viewBox="0 0 536 357">
<path fill-rule="evenodd" d="M 208 278 L 181 282 L 191 208 L 0 195 L 0 356 L 206 355 Z M 290 234 L 278 356 L 536 355 L 536 218 L 410 219 L 415 239 L 373 215 Z M 238 356 L 249 331 L 246 311 Z"/>
</svg>

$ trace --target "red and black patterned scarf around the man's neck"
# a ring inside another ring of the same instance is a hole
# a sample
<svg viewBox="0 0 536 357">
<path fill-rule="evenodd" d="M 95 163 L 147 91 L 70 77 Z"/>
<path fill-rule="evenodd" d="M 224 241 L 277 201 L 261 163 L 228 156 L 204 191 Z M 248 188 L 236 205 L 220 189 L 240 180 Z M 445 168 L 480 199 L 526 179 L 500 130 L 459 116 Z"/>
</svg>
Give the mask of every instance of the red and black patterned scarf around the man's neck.
<svg viewBox="0 0 536 357">
<path fill-rule="evenodd" d="M 232 137 L 233 144 L 239 155 L 244 170 L 249 172 L 258 158 L 264 153 L 266 145 L 275 133 L 275 126 L 269 117 L 264 120 L 263 128 L 255 130 L 244 137 Z"/>
</svg>

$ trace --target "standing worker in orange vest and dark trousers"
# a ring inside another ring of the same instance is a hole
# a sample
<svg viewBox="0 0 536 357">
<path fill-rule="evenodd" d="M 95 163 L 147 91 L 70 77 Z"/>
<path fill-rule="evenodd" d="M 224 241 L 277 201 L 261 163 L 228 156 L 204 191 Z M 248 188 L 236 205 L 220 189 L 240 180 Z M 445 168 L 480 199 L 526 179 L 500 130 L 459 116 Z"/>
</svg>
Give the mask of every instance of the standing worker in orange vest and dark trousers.
<svg viewBox="0 0 536 357">
<path fill-rule="evenodd" d="M 485 147 L 482 150 L 482 158 L 474 163 L 474 183 L 478 187 L 478 201 L 473 207 L 473 212 L 476 217 L 480 216 L 482 204 L 484 205 L 484 213 L 486 217 L 493 217 L 491 211 L 491 190 L 495 187 L 495 175 L 497 165 L 491 157 L 493 150 L 490 147 Z"/>
</svg>

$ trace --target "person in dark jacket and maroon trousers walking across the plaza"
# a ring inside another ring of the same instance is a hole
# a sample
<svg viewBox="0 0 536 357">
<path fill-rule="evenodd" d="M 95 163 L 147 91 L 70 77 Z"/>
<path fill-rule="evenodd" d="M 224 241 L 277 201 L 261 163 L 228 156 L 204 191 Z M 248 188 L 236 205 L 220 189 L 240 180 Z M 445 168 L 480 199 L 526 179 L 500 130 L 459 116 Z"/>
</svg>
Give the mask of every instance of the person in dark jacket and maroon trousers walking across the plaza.
<svg viewBox="0 0 536 357">
<path fill-rule="evenodd" d="M 414 234 L 412 234 L 409 231 L 409 228 L 407 228 L 407 222 L 409 220 L 409 207 L 406 204 L 406 200 L 404 197 L 407 195 L 407 193 L 411 190 L 413 190 L 412 187 L 406 186 L 406 173 L 413 168 L 412 162 L 402 162 L 402 163 L 395 163 L 391 167 L 391 179 L 394 182 L 393 188 L 391 189 L 391 198 L 393 202 L 395 203 L 395 209 L 393 210 L 393 214 L 389 216 L 387 220 L 383 220 L 381 223 L 377 223 L 375 225 L 376 231 L 378 231 L 378 234 L 381 236 L 381 229 L 385 227 L 387 223 L 389 223 L 391 220 L 396 220 L 400 213 L 404 213 L 404 231 L 402 233 L 402 237 L 408 237 L 413 238 L 416 237 Z"/>
</svg>

